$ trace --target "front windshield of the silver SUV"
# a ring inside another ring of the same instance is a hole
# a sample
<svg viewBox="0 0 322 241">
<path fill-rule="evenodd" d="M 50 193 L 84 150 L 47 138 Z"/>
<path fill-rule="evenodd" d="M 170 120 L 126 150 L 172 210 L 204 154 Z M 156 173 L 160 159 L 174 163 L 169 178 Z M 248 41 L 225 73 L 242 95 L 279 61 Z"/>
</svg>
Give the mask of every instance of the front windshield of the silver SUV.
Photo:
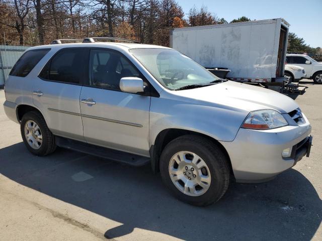
<svg viewBox="0 0 322 241">
<path fill-rule="evenodd" d="M 204 67 L 174 49 L 142 48 L 131 49 L 130 52 L 158 82 L 172 90 L 219 80 Z"/>
</svg>

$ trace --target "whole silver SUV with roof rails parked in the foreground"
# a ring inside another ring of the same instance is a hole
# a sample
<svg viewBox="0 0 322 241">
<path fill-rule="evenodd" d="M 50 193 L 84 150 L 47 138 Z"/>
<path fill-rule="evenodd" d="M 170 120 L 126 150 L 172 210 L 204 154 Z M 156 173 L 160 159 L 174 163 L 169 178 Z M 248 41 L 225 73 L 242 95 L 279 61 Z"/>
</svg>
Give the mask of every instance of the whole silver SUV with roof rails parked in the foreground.
<svg viewBox="0 0 322 241">
<path fill-rule="evenodd" d="M 97 40 L 29 48 L 12 69 L 4 107 L 31 153 L 150 163 L 194 205 L 219 200 L 231 178 L 269 180 L 309 155 L 311 126 L 291 98 L 171 48 Z"/>
</svg>

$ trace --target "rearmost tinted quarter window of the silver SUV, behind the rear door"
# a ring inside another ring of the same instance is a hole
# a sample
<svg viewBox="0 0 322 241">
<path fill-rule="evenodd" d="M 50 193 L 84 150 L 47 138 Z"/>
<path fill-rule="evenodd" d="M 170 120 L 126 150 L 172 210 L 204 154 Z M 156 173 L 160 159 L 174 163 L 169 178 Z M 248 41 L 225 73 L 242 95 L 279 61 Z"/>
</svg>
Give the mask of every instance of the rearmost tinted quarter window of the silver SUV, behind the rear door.
<svg viewBox="0 0 322 241">
<path fill-rule="evenodd" d="M 50 49 L 34 49 L 24 53 L 10 71 L 10 75 L 25 77 Z"/>
</svg>

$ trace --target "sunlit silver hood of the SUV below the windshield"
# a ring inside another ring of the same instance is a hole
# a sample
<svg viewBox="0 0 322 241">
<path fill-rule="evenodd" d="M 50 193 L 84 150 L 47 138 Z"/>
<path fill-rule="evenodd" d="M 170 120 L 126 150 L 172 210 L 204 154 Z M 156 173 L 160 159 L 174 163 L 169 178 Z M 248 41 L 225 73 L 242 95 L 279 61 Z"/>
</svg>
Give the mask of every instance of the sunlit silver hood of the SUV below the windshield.
<svg viewBox="0 0 322 241">
<path fill-rule="evenodd" d="M 205 87 L 173 91 L 175 95 L 186 97 L 189 102 L 211 105 L 227 109 L 253 111 L 258 109 L 275 109 L 288 113 L 298 108 L 290 97 L 276 91 L 250 84 L 226 81 Z"/>
</svg>

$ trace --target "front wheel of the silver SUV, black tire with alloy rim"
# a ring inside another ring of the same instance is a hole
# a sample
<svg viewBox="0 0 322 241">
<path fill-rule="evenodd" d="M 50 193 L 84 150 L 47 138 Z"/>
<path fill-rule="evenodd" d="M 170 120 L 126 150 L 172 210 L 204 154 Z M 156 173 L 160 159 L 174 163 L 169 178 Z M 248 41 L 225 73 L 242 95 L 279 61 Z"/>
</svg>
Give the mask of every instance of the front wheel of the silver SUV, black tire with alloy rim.
<svg viewBox="0 0 322 241">
<path fill-rule="evenodd" d="M 190 160 L 191 162 L 188 164 L 184 161 L 176 164 L 175 160 L 180 159 L 180 156 L 185 159 L 182 153 L 188 153 L 185 156 L 186 159 L 195 158 Z M 191 153 L 194 155 L 192 156 Z M 199 164 L 195 165 L 195 163 Z M 197 166 L 204 164 L 206 167 L 198 169 Z M 195 167 L 194 170 L 190 165 Z M 176 166 L 178 166 L 177 169 L 174 168 Z M 178 175 L 171 174 L 170 170 L 178 170 Z M 230 169 L 227 157 L 211 141 L 194 135 L 179 137 L 165 147 L 160 157 L 160 173 L 164 184 L 174 196 L 195 206 L 206 206 L 218 201 L 229 186 Z M 181 181 L 173 181 L 179 177 L 182 178 Z M 189 177 L 192 179 L 188 180 Z M 207 186 L 206 188 L 199 186 L 199 183 L 194 188 L 186 188 L 187 183 L 200 182 L 201 177 L 207 179 L 206 182 L 201 183 L 202 186 Z M 201 187 L 202 189 L 200 189 Z"/>
</svg>

